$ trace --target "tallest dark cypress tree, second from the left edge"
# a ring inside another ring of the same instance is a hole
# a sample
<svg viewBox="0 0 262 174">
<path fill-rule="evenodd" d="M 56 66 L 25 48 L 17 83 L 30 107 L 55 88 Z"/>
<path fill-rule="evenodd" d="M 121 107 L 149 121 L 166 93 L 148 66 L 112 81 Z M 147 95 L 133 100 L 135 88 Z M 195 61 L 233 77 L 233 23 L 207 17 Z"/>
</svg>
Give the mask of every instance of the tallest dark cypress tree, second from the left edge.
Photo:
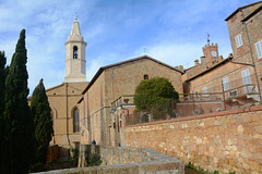
<svg viewBox="0 0 262 174">
<path fill-rule="evenodd" d="M 5 147 L 7 173 L 28 173 L 35 157 L 34 121 L 27 103 L 25 29 L 20 34 L 5 79 Z"/>
</svg>

